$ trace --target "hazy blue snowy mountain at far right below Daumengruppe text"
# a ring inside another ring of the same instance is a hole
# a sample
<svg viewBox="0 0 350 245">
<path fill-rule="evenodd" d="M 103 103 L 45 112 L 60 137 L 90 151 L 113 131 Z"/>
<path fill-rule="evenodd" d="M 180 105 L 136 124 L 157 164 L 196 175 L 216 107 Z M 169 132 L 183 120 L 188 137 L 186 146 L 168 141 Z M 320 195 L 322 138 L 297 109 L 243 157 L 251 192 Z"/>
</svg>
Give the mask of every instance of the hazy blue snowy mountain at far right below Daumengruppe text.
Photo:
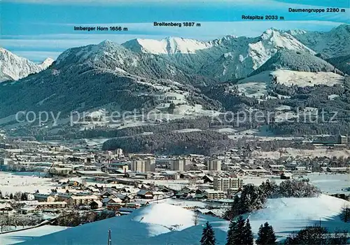
<svg viewBox="0 0 350 245">
<path fill-rule="evenodd" d="M 316 52 L 324 52 L 331 57 L 350 54 L 350 25 L 339 25 L 330 31 L 288 31 L 301 43 Z"/>
</svg>

